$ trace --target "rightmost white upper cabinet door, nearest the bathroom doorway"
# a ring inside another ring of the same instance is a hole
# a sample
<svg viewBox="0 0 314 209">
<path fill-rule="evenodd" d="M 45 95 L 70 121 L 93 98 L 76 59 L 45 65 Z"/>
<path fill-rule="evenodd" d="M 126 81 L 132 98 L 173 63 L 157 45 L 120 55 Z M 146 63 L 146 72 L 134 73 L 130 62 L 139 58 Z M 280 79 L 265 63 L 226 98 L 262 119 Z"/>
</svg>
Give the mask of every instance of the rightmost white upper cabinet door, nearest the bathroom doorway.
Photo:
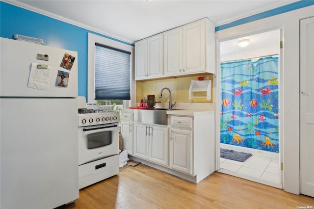
<svg viewBox="0 0 314 209">
<path fill-rule="evenodd" d="M 205 21 L 183 26 L 183 72 L 205 72 Z"/>
</svg>

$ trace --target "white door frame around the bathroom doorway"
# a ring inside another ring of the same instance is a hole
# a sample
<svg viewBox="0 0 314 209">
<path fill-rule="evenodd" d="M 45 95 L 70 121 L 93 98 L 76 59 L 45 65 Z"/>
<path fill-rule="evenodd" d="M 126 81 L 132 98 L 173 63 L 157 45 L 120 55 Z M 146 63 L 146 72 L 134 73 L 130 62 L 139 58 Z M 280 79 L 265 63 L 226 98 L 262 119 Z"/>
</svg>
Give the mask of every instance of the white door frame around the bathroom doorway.
<svg viewBox="0 0 314 209">
<path fill-rule="evenodd" d="M 217 31 L 216 39 L 220 41 L 232 39 L 244 34 L 253 34 L 272 29 L 283 29 L 283 74 L 282 74 L 282 106 L 280 107 L 280 141 L 283 142 L 283 187 L 287 192 L 300 194 L 299 164 L 299 21 L 314 15 L 314 6 L 293 10 L 287 13 L 264 18 L 262 20 Z M 219 47 L 217 47 L 219 51 Z M 217 52 L 220 54 L 220 52 Z M 219 58 L 217 58 L 220 63 Z M 219 66 L 219 64 L 217 65 Z M 220 70 L 217 69 L 217 80 Z M 293 84 L 293 85 L 292 85 Z M 220 83 L 216 82 L 217 101 L 220 101 Z M 220 112 L 220 105 L 217 105 Z M 217 119 L 216 124 L 219 124 Z M 220 133 L 217 131 L 217 142 Z"/>
</svg>

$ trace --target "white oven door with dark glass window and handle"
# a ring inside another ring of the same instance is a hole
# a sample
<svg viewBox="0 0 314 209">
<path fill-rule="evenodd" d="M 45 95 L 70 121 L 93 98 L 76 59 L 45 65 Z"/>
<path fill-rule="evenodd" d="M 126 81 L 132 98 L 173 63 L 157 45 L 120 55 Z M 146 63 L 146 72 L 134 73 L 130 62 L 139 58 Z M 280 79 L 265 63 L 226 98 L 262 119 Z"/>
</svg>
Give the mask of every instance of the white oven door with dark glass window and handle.
<svg viewBox="0 0 314 209">
<path fill-rule="evenodd" d="M 78 165 L 119 154 L 118 123 L 78 127 Z"/>
</svg>

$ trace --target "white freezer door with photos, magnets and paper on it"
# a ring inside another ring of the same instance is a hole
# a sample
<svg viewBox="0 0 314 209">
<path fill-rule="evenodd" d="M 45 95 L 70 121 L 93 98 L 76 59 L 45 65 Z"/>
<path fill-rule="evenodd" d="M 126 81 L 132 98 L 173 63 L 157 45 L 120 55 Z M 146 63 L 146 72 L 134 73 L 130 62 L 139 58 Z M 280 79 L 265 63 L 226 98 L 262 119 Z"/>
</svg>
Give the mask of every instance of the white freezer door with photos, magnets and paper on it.
<svg viewBox="0 0 314 209">
<path fill-rule="evenodd" d="M 65 53 L 72 57 L 71 70 L 60 67 Z M 37 59 L 37 54 L 48 55 L 49 61 Z M 78 96 L 78 52 L 1 37 L 0 60 L 1 97 Z M 37 69 L 37 64 L 48 65 L 49 69 Z M 66 88 L 58 86 L 63 73 L 68 77 Z"/>
</svg>

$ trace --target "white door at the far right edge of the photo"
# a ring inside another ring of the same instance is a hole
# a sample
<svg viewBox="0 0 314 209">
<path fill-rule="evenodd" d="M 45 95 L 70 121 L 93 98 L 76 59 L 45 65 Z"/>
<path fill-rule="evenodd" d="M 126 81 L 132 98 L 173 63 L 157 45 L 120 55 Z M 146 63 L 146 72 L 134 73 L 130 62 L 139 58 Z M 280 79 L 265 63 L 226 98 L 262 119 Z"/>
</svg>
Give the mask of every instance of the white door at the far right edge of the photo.
<svg viewBox="0 0 314 209">
<path fill-rule="evenodd" d="M 314 17 L 300 21 L 300 191 L 314 197 Z"/>
</svg>

